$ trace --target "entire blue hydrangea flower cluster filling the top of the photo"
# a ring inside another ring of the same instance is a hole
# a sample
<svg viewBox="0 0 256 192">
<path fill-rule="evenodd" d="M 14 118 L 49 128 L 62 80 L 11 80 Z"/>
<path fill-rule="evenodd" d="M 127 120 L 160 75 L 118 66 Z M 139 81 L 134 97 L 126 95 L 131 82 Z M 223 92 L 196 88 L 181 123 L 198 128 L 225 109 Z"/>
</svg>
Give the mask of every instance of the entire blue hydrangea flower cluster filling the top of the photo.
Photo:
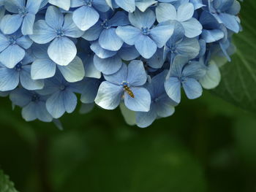
<svg viewBox="0 0 256 192">
<path fill-rule="evenodd" d="M 140 127 L 215 88 L 237 0 L 0 0 L 0 93 L 25 120 L 120 104 Z M 202 88 L 203 87 L 203 88 Z M 124 114 L 126 115 L 126 114 Z"/>
</svg>

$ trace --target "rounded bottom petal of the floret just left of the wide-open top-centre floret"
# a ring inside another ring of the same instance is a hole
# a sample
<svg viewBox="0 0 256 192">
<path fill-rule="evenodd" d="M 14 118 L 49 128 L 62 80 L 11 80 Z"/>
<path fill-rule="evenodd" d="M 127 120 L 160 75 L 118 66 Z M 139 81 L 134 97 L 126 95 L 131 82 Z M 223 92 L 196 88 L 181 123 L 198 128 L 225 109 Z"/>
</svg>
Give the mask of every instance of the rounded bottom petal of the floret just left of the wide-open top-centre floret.
<svg viewBox="0 0 256 192">
<path fill-rule="evenodd" d="M 104 29 L 99 36 L 99 45 L 105 50 L 120 50 L 123 43 L 116 34 L 116 28 Z"/>
</svg>

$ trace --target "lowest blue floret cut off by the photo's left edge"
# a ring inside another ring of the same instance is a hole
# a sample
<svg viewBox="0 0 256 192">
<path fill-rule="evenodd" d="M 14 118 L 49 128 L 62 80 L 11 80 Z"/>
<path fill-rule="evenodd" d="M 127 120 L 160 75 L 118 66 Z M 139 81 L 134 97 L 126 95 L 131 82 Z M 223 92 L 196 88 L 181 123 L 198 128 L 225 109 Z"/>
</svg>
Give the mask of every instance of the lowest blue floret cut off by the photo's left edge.
<svg viewBox="0 0 256 192">
<path fill-rule="evenodd" d="M 20 61 L 12 69 L 0 64 L 0 91 L 12 91 L 17 86 L 22 85 L 27 90 L 37 90 L 44 87 L 42 80 L 31 79 L 31 63 L 33 58 L 26 55 L 22 61 Z"/>
</svg>

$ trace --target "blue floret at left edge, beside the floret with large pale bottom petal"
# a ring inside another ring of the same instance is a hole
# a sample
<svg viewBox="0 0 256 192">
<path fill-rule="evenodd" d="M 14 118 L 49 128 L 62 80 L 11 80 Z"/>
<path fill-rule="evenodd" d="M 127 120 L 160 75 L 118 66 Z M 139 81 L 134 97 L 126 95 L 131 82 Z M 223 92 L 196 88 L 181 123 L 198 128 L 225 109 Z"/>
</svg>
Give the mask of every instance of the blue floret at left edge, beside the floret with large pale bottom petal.
<svg viewBox="0 0 256 192">
<path fill-rule="evenodd" d="M 3 22 L 1 22 L 2 24 Z M 0 26 L 1 28 L 1 26 Z M 26 50 L 32 45 L 31 39 L 23 36 L 20 31 L 6 35 L 0 32 L 0 62 L 8 68 L 13 68 L 26 55 Z"/>
</svg>

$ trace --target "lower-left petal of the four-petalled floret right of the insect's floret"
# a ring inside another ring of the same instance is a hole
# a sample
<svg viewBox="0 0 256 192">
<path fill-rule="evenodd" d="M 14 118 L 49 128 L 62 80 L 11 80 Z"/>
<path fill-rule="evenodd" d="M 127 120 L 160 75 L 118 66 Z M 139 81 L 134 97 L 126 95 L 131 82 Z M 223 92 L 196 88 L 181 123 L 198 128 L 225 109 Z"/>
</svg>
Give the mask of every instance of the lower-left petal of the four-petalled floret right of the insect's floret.
<svg viewBox="0 0 256 192">
<path fill-rule="evenodd" d="M 170 77 L 165 81 L 165 91 L 177 104 L 181 102 L 181 82 L 177 77 Z"/>
</svg>

